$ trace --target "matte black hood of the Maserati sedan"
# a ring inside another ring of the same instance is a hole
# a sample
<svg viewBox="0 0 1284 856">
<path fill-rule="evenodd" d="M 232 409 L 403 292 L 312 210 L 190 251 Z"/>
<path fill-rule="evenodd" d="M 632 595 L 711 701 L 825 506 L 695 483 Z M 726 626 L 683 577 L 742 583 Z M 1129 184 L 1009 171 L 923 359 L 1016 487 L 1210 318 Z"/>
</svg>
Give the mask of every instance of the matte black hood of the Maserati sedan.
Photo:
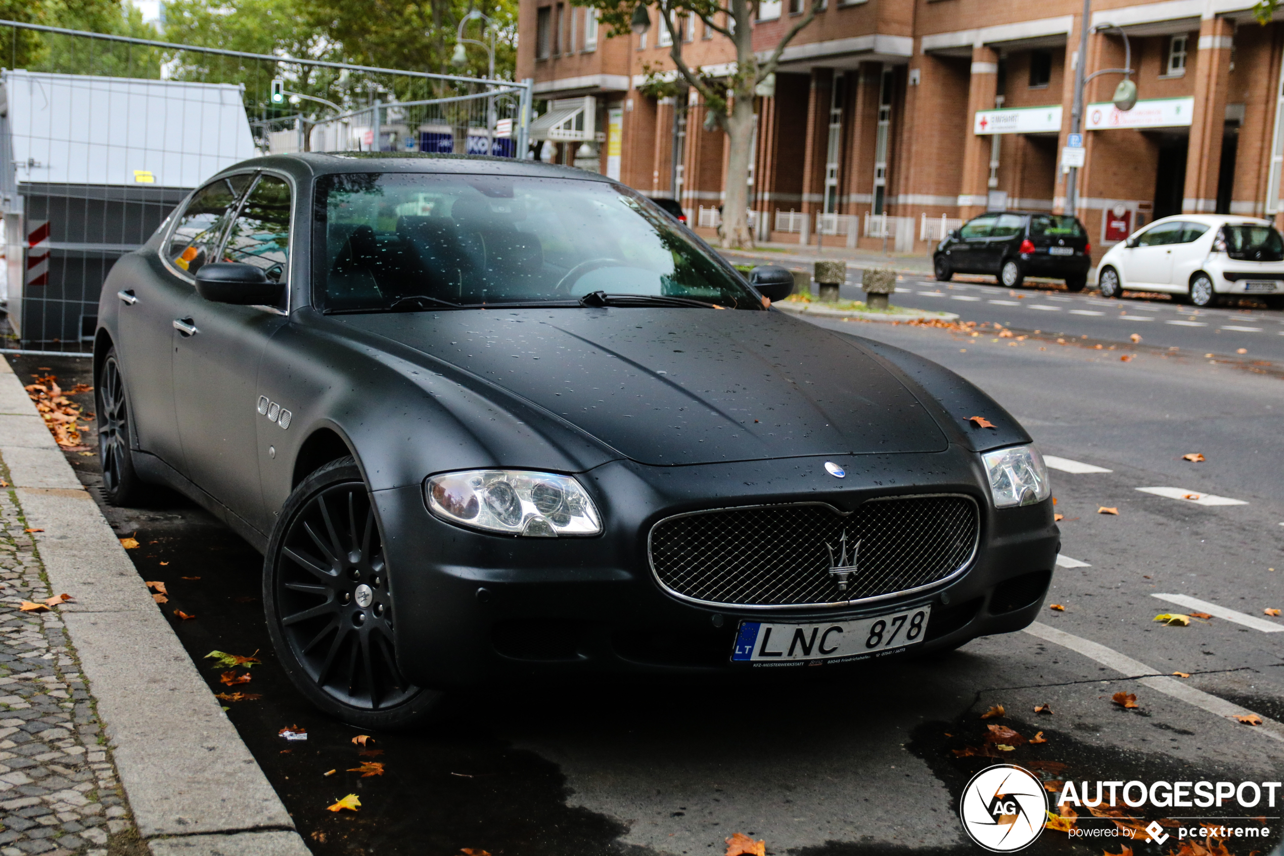
<svg viewBox="0 0 1284 856">
<path fill-rule="evenodd" d="M 915 394 L 855 339 L 779 312 L 496 308 L 331 320 L 448 363 L 641 463 L 948 447 Z"/>
</svg>

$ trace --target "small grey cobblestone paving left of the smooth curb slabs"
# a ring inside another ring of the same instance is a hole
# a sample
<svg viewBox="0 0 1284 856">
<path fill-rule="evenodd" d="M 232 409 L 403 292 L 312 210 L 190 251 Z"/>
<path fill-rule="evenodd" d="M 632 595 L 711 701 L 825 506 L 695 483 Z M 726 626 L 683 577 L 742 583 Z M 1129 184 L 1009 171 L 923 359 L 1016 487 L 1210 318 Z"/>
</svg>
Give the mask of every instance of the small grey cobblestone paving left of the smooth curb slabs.
<svg viewBox="0 0 1284 856">
<path fill-rule="evenodd" d="M 26 527 L 14 492 L 0 490 L 0 855 L 135 852 L 137 832 L 58 610 L 19 608 L 54 594 Z"/>
</svg>

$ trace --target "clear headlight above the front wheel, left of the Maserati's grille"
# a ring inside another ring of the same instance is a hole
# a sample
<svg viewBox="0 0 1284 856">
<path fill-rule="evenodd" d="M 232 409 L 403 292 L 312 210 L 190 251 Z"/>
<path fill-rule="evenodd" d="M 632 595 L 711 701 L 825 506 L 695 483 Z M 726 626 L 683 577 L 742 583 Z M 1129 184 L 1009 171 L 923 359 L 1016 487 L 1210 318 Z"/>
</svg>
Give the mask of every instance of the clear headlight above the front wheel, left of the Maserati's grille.
<svg viewBox="0 0 1284 856">
<path fill-rule="evenodd" d="M 593 501 L 570 476 L 469 470 L 424 480 L 429 509 L 452 524 L 507 535 L 557 538 L 602 531 Z"/>
</svg>

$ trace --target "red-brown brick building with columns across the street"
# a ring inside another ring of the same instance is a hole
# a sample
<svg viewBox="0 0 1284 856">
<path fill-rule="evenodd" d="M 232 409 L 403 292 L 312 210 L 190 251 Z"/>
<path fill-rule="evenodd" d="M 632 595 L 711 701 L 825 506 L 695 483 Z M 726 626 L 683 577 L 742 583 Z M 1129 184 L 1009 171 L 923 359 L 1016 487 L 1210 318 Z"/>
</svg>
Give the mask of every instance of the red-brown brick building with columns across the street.
<svg viewBox="0 0 1284 856">
<path fill-rule="evenodd" d="M 758 50 L 802 3 L 759 4 Z M 1094 252 L 1181 212 L 1279 216 L 1284 23 L 1251 8 L 1095 0 L 1086 71 L 1122 68 L 1126 35 L 1139 100 L 1122 114 L 1109 103 L 1120 74 L 1085 91 L 1077 213 Z M 921 252 L 986 209 L 1062 210 L 1081 13 L 1080 0 L 827 0 L 756 99 L 758 235 Z M 550 104 L 533 136 L 541 157 L 677 198 L 707 228 L 725 135 L 705 130 L 695 90 L 638 89 L 673 68 L 651 17 L 643 36 L 609 39 L 591 9 L 521 0 L 517 76 Z M 681 30 L 692 67 L 718 74 L 733 59 L 700 21 Z"/>
</svg>

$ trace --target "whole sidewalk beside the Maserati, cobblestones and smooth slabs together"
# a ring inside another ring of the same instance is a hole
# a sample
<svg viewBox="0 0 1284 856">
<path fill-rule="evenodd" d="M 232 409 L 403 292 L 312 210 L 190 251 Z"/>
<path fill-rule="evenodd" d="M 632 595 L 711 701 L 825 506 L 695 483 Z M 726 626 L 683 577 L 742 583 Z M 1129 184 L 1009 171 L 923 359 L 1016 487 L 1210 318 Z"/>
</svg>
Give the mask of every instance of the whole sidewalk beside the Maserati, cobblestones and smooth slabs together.
<svg viewBox="0 0 1284 856">
<path fill-rule="evenodd" d="M 0 855 L 307 856 L 3 359 L 0 461 Z"/>
</svg>

